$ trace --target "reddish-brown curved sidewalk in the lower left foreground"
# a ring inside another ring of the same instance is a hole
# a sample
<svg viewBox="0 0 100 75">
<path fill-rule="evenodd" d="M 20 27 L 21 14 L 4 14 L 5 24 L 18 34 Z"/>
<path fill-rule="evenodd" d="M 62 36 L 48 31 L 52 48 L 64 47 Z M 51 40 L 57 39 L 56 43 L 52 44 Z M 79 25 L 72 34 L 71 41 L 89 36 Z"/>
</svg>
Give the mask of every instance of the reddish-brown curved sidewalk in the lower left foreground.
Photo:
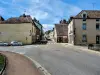
<svg viewBox="0 0 100 75">
<path fill-rule="evenodd" d="M 5 75 L 41 75 L 32 61 L 12 52 L 0 52 L 8 59 Z"/>
</svg>

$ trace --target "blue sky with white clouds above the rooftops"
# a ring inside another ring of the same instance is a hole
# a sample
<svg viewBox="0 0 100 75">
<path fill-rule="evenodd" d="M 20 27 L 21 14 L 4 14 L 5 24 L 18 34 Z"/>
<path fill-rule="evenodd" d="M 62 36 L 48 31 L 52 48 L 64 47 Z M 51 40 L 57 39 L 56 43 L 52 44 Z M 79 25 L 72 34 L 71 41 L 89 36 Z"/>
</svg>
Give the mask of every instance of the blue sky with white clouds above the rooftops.
<svg viewBox="0 0 100 75">
<path fill-rule="evenodd" d="M 81 10 L 99 10 L 99 3 L 100 0 L 0 0 L 0 15 L 8 19 L 26 13 L 36 17 L 47 31 Z"/>
</svg>

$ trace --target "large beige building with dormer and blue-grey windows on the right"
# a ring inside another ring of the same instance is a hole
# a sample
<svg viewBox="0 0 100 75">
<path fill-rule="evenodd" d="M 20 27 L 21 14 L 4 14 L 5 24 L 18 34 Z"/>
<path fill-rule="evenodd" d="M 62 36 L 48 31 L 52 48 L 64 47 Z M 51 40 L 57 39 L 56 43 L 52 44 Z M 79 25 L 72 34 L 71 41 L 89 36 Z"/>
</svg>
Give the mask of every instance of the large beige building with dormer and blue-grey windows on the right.
<svg viewBox="0 0 100 75">
<path fill-rule="evenodd" d="M 68 42 L 75 45 L 100 44 L 100 11 L 82 10 L 70 17 Z"/>
</svg>

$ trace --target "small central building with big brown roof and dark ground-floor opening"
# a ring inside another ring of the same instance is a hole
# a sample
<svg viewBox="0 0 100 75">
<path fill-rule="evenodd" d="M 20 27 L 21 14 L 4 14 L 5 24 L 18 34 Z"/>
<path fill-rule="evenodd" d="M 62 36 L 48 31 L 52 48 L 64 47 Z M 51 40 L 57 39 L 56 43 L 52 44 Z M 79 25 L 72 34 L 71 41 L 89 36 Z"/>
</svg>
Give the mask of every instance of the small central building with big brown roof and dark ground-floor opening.
<svg viewBox="0 0 100 75">
<path fill-rule="evenodd" d="M 68 23 L 66 20 L 61 20 L 59 24 L 55 24 L 53 36 L 58 43 L 68 42 Z"/>
</svg>

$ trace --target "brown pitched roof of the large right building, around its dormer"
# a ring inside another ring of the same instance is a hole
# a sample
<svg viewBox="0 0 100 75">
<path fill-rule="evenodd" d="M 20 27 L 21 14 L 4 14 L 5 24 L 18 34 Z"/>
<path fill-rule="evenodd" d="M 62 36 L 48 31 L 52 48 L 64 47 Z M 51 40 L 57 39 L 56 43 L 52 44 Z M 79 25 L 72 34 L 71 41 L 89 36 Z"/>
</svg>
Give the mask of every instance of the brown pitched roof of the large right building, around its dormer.
<svg viewBox="0 0 100 75">
<path fill-rule="evenodd" d="M 87 18 L 100 18 L 100 10 L 82 10 L 78 15 L 73 18 L 82 18 L 82 13 L 87 13 Z"/>
</svg>

